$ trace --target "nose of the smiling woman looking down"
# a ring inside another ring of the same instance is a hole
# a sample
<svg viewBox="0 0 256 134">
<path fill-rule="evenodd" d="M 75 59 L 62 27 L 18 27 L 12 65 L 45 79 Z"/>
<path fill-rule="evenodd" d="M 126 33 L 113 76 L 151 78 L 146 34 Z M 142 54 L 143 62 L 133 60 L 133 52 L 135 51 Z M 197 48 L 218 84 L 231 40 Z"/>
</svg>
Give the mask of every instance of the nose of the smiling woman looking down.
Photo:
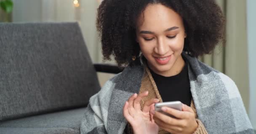
<svg viewBox="0 0 256 134">
<path fill-rule="evenodd" d="M 168 52 L 168 44 L 165 43 L 164 39 L 159 38 L 157 40 L 157 45 L 154 48 L 155 53 L 159 55 L 165 55 Z"/>
</svg>

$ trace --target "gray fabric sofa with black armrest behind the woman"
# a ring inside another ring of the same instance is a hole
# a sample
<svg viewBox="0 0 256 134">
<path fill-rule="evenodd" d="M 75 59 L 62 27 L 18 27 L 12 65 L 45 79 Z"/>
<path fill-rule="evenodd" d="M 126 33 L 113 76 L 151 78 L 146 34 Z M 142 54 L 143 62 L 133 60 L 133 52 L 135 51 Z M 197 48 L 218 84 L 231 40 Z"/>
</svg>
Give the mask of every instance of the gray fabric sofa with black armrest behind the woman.
<svg viewBox="0 0 256 134">
<path fill-rule="evenodd" d="M 77 23 L 0 23 L 0 134 L 79 134 L 96 70 Z"/>
</svg>

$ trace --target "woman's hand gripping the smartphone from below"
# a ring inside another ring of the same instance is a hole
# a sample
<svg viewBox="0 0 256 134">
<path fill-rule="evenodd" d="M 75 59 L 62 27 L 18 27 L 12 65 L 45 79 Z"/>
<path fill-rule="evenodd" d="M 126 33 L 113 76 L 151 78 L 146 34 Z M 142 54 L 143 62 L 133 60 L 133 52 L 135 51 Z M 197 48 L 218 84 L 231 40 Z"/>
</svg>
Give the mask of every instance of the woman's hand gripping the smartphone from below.
<svg viewBox="0 0 256 134">
<path fill-rule="evenodd" d="M 154 114 L 155 123 L 165 131 L 171 134 L 193 134 L 197 129 L 198 124 L 195 119 L 195 113 L 189 106 L 182 104 L 182 111 L 163 107 L 162 111 L 176 117 L 175 119 L 151 110 L 151 113 Z"/>
</svg>

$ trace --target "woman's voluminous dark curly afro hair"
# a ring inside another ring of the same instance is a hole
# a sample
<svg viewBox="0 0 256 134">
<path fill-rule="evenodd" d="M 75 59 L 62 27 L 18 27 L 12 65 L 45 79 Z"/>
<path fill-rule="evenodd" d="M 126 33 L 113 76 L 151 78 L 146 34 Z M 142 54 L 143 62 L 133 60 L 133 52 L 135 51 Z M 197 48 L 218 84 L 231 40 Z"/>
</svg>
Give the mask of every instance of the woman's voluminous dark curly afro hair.
<svg viewBox="0 0 256 134">
<path fill-rule="evenodd" d="M 103 0 L 98 8 L 97 30 L 104 60 L 114 56 L 127 65 L 140 53 L 136 42 L 136 22 L 148 4 L 160 3 L 178 13 L 187 38 L 184 51 L 198 57 L 213 51 L 224 37 L 224 16 L 215 0 Z"/>
</svg>

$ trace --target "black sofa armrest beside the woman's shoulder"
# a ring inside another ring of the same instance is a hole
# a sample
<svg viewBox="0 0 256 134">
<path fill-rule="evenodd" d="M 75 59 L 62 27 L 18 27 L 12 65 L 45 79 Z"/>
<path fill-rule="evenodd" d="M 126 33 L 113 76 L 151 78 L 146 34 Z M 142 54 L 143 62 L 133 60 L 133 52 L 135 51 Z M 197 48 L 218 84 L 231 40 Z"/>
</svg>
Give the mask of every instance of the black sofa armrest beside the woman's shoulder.
<svg viewBox="0 0 256 134">
<path fill-rule="evenodd" d="M 96 72 L 106 72 L 106 73 L 118 74 L 123 71 L 123 68 L 120 68 L 115 64 L 96 63 L 93 65 L 94 65 Z"/>
</svg>

